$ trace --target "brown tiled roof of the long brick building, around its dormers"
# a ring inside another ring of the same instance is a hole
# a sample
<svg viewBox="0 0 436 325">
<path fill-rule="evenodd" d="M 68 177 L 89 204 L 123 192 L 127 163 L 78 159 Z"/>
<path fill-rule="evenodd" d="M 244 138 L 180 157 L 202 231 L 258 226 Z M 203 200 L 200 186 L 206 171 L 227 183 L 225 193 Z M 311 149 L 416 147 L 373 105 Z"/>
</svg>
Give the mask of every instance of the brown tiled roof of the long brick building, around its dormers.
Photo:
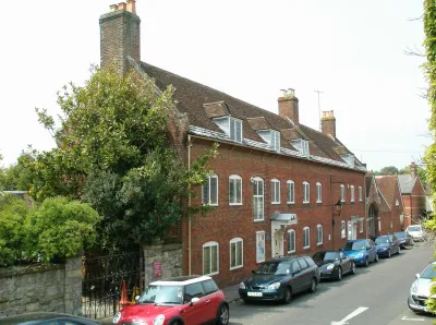
<svg viewBox="0 0 436 325">
<path fill-rule="evenodd" d="M 289 135 L 298 135 L 299 137 L 308 140 L 308 147 L 311 156 L 316 157 L 317 161 L 336 161 L 335 165 L 340 167 L 348 167 L 343 159 L 335 152 L 334 147 L 338 145 L 343 146 L 337 139 L 332 139 L 322 132 L 315 131 L 308 127 L 298 124 L 294 125 L 288 118 L 280 117 L 271 111 L 262 109 L 230 95 L 227 95 L 217 89 L 210 88 L 208 86 L 202 85 L 199 83 L 193 82 L 185 77 L 179 76 L 171 72 L 165 71 L 162 69 L 156 68 L 148 63 L 141 63 L 142 70 L 152 79 L 155 79 L 156 85 L 160 89 L 165 89 L 167 86 L 172 85 L 174 88 L 173 98 L 177 100 L 177 108 L 179 111 L 186 113 L 192 129 L 204 133 L 206 130 L 209 132 L 215 132 L 214 134 L 217 139 L 226 139 L 226 134 L 213 122 L 210 115 L 218 116 L 222 110 L 220 107 L 213 107 L 205 110 L 205 104 L 213 103 L 225 103 L 225 107 L 229 115 L 243 120 L 243 137 L 247 145 L 254 145 L 256 147 L 266 147 L 269 149 L 268 145 L 263 141 L 263 139 L 256 133 L 249 123 L 256 122 L 257 127 L 259 123 L 267 123 L 272 130 L 287 130 L 281 134 L 280 146 L 281 152 L 296 152 L 289 141 Z M 209 115 L 209 116 L 208 116 Z M 262 119 L 259 119 L 262 118 Z M 208 133 L 210 135 L 213 133 Z M 349 152 L 347 149 L 347 152 Z M 365 167 L 355 159 L 355 168 L 360 171 L 366 171 Z"/>
</svg>

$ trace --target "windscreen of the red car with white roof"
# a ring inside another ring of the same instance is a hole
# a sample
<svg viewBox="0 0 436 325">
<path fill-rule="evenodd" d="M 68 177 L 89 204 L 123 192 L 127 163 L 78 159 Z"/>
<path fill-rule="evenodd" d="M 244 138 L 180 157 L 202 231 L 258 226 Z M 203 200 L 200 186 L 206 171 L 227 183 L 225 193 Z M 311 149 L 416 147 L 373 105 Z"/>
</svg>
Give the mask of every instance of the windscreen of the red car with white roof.
<svg viewBox="0 0 436 325">
<path fill-rule="evenodd" d="M 149 286 L 141 294 L 140 303 L 182 304 L 182 286 Z"/>
</svg>

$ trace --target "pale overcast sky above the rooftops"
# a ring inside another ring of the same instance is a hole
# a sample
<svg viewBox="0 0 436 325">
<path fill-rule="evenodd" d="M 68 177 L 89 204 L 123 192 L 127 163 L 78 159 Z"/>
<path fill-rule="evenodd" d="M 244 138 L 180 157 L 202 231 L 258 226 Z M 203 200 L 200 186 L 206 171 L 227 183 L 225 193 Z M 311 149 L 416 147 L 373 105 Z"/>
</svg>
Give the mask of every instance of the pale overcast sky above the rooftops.
<svg viewBox="0 0 436 325">
<path fill-rule="evenodd" d="M 99 16 L 110 0 L 21 0 L 0 20 L 3 166 L 32 145 L 55 146 L 35 107 L 57 116 L 57 92 L 99 64 Z M 300 122 L 319 130 L 334 110 L 337 137 L 368 170 L 420 162 L 429 106 L 417 0 L 137 0 L 142 61 L 272 112 L 294 88 Z M 417 19 L 417 20 L 416 20 Z M 319 103 L 318 94 L 320 91 Z"/>
</svg>

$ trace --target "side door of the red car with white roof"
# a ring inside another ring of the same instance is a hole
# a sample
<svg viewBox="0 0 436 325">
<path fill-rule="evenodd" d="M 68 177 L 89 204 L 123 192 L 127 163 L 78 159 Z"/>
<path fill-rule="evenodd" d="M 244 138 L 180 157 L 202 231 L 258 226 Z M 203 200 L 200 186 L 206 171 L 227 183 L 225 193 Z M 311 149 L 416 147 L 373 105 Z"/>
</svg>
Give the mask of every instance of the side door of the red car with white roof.
<svg viewBox="0 0 436 325">
<path fill-rule="evenodd" d="M 193 298 L 199 298 L 199 301 L 195 304 L 191 304 Z M 206 300 L 202 282 L 195 282 L 184 287 L 183 303 L 185 306 L 182 309 L 181 316 L 185 324 L 199 325 L 205 323 L 206 314 L 208 315 L 210 313 L 210 310 L 208 310 L 210 305 L 206 303 Z"/>
</svg>

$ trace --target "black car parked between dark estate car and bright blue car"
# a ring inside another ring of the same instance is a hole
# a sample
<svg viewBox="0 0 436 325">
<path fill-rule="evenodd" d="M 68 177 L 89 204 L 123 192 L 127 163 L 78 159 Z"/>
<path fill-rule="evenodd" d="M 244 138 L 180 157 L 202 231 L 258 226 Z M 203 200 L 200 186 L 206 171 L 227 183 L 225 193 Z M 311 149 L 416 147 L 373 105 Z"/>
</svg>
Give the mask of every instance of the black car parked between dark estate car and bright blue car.
<svg viewBox="0 0 436 325">
<path fill-rule="evenodd" d="M 355 264 L 341 251 L 320 251 L 313 256 L 319 267 L 322 279 L 341 280 L 344 274 L 355 274 Z"/>
</svg>

